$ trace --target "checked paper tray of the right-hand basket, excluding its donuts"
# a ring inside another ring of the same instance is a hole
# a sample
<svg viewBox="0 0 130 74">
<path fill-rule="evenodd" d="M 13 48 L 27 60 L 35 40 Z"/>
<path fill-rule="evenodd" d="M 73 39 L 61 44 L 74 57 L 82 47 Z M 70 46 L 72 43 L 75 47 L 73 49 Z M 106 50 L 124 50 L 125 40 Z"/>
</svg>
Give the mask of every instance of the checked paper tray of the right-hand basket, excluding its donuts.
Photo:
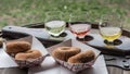
<svg viewBox="0 0 130 74">
<path fill-rule="evenodd" d="M 100 51 L 99 51 L 99 50 L 96 50 L 96 49 L 94 49 L 94 48 L 92 48 L 92 47 L 90 47 L 90 46 L 88 46 L 88 45 L 84 45 L 84 44 L 82 44 L 82 42 L 79 42 L 79 41 L 77 41 L 77 40 L 75 40 L 75 39 L 66 40 L 66 41 L 64 41 L 64 42 L 61 42 L 61 44 L 58 44 L 58 45 L 52 46 L 52 47 L 47 48 L 47 49 L 48 49 L 49 53 L 52 54 L 52 51 L 53 51 L 55 48 L 57 48 L 57 47 L 78 47 L 78 48 L 81 49 L 81 52 L 83 52 L 83 51 L 86 51 L 86 50 L 93 50 L 93 51 L 94 51 L 94 53 L 95 53 L 95 59 L 92 60 L 92 61 L 90 61 L 90 62 L 87 62 L 87 63 L 68 63 L 68 62 L 65 62 L 65 61 L 55 59 L 55 61 L 56 61 L 57 63 L 60 63 L 61 65 L 67 67 L 68 70 L 70 70 L 70 71 L 73 71 L 73 72 L 79 72 L 79 71 L 86 70 L 86 69 L 88 69 L 88 67 L 91 67 L 91 66 L 94 64 L 96 58 L 98 58 L 99 54 L 100 54 Z"/>
</svg>

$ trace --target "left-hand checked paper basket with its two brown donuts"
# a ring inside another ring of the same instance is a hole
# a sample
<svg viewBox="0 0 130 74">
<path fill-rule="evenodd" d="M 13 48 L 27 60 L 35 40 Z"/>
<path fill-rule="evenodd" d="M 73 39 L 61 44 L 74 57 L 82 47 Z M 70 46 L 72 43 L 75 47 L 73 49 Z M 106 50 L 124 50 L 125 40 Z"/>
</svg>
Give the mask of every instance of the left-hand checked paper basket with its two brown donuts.
<svg viewBox="0 0 130 74">
<path fill-rule="evenodd" d="M 22 69 L 39 65 L 48 54 L 42 44 L 32 36 L 6 41 L 4 50 Z"/>
</svg>

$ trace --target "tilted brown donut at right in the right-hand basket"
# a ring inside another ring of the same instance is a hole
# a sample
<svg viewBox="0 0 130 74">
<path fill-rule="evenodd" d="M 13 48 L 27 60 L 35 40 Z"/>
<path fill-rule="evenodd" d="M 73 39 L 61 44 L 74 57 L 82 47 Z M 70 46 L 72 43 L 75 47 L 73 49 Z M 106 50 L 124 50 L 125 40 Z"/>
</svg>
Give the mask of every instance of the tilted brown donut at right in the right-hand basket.
<svg viewBox="0 0 130 74">
<path fill-rule="evenodd" d="M 86 63 L 94 60 L 95 53 L 92 50 L 87 50 L 86 52 L 80 52 L 74 57 L 70 57 L 67 62 L 69 63 Z"/>
</svg>

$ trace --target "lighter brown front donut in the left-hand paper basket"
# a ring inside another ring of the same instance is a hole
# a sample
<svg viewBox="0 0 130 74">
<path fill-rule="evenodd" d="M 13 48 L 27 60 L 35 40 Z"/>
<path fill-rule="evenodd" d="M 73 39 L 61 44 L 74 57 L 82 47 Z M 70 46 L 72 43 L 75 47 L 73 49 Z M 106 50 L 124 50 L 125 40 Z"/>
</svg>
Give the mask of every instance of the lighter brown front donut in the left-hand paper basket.
<svg viewBox="0 0 130 74">
<path fill-rule="evenodd" d="M 26 52 L 20 52 L 15 55 L 15 60 L 32 60 L 42 57 L 39 50 L 28 50 Z"/>
</svg>

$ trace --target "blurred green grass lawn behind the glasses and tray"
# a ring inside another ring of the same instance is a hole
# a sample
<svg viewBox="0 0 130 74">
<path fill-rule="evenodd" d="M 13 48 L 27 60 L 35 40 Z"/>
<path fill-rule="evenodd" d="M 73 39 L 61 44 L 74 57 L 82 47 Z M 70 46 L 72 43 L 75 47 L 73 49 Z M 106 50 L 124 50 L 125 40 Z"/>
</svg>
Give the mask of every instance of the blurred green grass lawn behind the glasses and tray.
<svg viewBox="0 0 130 74">
<path fill-rule="evenodd" d="M 69 14 L 82 14 L 81 21 L 96 22 L 107 13 L 115 12 L 127 17 L 125 27 L 130 28 L 130 0 L 0 0 L 0 27 L 44 22 L 54 14 L 69 21 Z M 77 21 L 77 20 L 74 20 Z"/>
</svg>

